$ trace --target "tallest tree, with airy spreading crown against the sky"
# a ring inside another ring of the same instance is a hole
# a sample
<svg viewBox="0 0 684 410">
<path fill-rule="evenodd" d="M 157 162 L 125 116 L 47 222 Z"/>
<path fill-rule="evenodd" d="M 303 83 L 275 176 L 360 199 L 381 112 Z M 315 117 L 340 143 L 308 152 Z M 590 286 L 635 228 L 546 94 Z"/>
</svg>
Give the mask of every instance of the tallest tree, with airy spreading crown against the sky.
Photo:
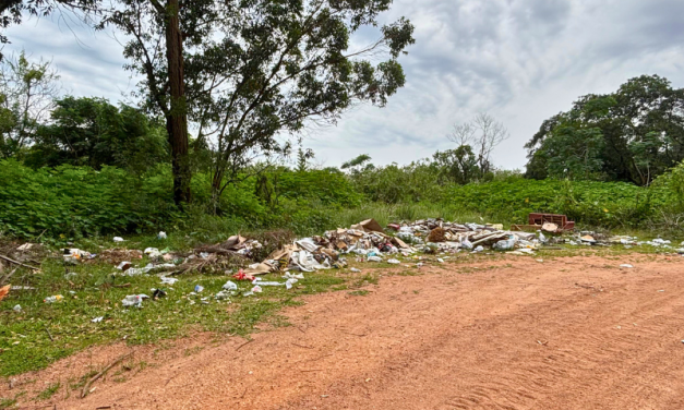
<svg viewBox="0 0 684 410">
<path fill-rule="evenodd" d="M 131 36 L 129 68 L 145 75 L 141 95 L 167 118 L 177 197 L 189 195 L 188 118 L 197 140 L 213 143 L 220 195 L 253 158 L 284 150 L 277 135 L 335 122 L 356 102 L 383 106 L 405 83 L 396 59 L 413 27 L 401 19 L 373 45 L 348 49 L 391 2 L 121 0 L 105 24 Z M 383 50 L 391 59 L 375 67 L 362 59 Z"/>
</svg>

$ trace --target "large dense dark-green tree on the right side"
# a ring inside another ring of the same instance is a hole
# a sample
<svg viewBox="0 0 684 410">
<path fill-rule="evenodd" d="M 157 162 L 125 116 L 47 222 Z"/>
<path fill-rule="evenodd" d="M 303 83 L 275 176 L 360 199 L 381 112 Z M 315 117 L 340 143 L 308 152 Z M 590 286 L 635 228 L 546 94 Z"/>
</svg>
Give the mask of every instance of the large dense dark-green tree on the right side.
<svg viewBox="0 0 684 410">
<path fill-rule="evenodd" d="M 583 141 L 597 143 L 596 134 L 583 135 L 591 129 L 600 132 L 602 143 L 587 145 L 584 152 L 596 154 L 600 170 L 593 162 L 593 172 L 578 172 L 575 178 L 592 176 L 648 185 L 684 159 L 684 89 L 672 88 L 658 75 L 643 75 L 627 81 L 615 93 L 580 97 L 569 111 L 544 121 L 527 143 L 527 176 L 539 179 L 557 174 L 557 168 L 551 172 L 551 167 L 564 161 L 559 155 L 578 153 L 577 144 Z M 578 135 L 579 141 L 567 138 L 571 134 Z M 547 143 L 550 138 L 557 141 Z M 574 147 L 562 148 L 563 144 Z M 551 147 L 554 149 L 549 150 Z"/>
</svg>

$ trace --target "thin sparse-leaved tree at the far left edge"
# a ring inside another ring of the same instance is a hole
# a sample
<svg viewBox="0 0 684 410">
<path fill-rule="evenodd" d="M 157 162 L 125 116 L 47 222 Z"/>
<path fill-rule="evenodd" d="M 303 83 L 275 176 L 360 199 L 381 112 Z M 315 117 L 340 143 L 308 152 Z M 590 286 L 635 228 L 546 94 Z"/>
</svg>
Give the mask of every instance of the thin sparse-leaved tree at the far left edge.
<svg viewBox="0 0 684 410">
<path fill-rule="evenodd" d="M 29 145 L 59 93 L 59 75 L 47 61 L 29 62 L 22 51 L 0 62 L 0 157 Z"/>
</svg>

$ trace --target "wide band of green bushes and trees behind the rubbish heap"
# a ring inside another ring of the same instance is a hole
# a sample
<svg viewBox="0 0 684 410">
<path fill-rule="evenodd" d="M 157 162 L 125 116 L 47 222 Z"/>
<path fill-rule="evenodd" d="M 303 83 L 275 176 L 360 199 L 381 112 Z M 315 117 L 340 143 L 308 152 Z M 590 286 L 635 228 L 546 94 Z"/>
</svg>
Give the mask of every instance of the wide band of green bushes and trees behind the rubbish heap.
<svg viewBox="0 0 684 410">
<path fill-rule="evenodd" d="M 173 194 L 164 118 L 61 96 L 57 77 L 48 63 L 24 55 L 3 63 L 5 234 L 53 242 L 163 229 L 205 239 L 271 228 L 312 234 L 367 217 L 521 224 L 530 212 L 567 214 L 591 227 L 679 228 L 684 215 L 684 92 L 658 76 L 581 97 L 545 121 L 527 145 L 526 174 L 492 164 L 507 132 L 488 114 L 456 124 L 453 149 L 409 165 L 375 166 L 361 155 L 340 168 L 315 169 L 314 153 L 300 146 L 288 166 L 289 147 L 231 161 L 218 190 L 218 152 L 206 138 L 191 138 L 193 197 L 183 208 Z"/>
</svg>

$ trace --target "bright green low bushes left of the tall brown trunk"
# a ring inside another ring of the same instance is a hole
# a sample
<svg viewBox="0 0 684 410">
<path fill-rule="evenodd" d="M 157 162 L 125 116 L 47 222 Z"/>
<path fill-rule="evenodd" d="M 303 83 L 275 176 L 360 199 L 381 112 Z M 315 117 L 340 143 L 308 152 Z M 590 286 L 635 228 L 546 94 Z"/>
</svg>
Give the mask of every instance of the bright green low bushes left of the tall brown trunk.
<svg viewBox="0 0 684 410">
<path fill-rule="evenodd" d="M 75 238 L 171 226 L 177 218 L 167 174 L 136 177 L 103 167 L 32 170 L 0 161 L 0 231 Z"/>
</svg>

